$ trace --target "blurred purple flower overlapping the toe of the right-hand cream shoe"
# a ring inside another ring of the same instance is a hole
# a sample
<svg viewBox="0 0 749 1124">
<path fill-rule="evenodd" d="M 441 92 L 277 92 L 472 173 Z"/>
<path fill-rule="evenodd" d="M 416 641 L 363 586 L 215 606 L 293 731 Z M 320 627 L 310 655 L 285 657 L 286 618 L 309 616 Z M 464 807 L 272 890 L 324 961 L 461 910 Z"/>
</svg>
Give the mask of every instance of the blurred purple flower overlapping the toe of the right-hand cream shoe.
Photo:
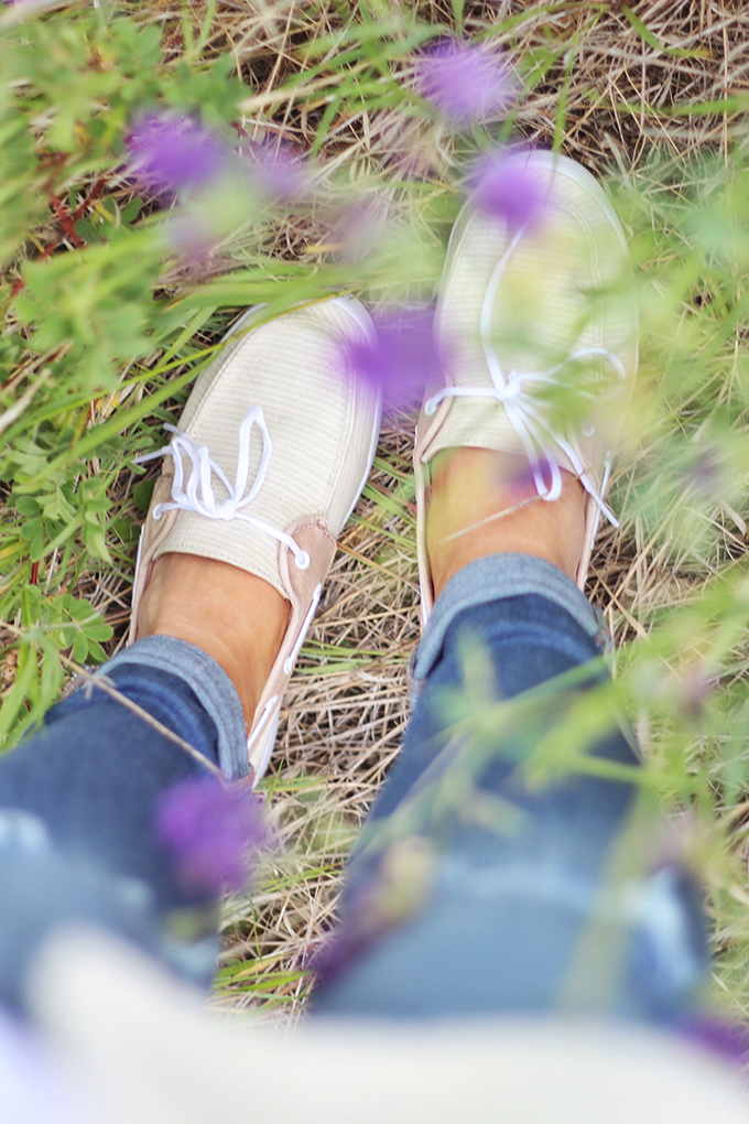
<svg viewBox="0 0 749 1124">
<path fill-rule="evenodd" d="M 483 156 L 471 182 L 475 206 L 492 218 L 504 219 L 513 232 L 537 224 L 547 205 L 538 178 L 517 152 Z"/>
</svg>

